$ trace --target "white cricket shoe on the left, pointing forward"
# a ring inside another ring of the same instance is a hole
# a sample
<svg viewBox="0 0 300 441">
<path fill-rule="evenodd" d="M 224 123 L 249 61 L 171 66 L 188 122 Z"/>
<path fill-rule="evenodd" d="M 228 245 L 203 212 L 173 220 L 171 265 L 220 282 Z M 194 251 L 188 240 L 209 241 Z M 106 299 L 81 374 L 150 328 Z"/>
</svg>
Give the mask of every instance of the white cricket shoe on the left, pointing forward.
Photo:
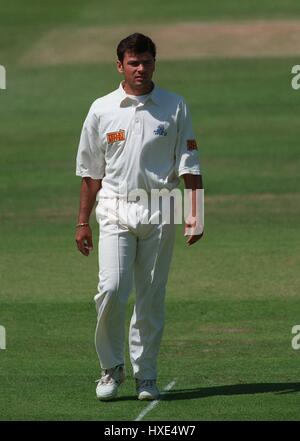
<svg viewBox="0 0 300 441">
<path fill-rule="evenodd" d="M 125 380 L 124 366 L 119 365 L 105 369 L 96 387 L 96 396 L 99 400 L 112 400 L 118 394 L 118 387 Z"/>
</svg>

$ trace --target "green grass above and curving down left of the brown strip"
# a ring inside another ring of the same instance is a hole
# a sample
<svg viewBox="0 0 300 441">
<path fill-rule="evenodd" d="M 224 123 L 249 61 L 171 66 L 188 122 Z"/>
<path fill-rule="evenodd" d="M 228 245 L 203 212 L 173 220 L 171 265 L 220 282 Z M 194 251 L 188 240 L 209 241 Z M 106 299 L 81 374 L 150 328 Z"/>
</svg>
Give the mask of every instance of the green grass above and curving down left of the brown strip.
<svg viewBox="0 0 300 441">
<path fill-rule="evenodd" d="M 178 21 L 297 19 L 298 0 L 189 0 L 137 1 L 68 0 L 51 3 L 27 0 L 0 1 L 0 63 L 14 65 L 18 57 L 51 29 L 64 26 L 133 25 Z"/>
</svg>

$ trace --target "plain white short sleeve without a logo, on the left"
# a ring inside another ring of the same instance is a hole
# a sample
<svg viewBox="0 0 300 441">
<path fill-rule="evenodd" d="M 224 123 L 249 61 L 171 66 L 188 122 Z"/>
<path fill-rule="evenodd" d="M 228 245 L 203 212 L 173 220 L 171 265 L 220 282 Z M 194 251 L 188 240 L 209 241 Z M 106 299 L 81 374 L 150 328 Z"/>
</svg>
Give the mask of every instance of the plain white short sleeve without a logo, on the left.
<svg viewBox="0 0 300 441">
<path fill-rule="evenodd" d="M 99 120 L 92 106 L 80 135 L 76 157 L 76 176 L 102 179 L 105 175 L 105 165 L 105 152 L 99 134 Z"/>
</svg>

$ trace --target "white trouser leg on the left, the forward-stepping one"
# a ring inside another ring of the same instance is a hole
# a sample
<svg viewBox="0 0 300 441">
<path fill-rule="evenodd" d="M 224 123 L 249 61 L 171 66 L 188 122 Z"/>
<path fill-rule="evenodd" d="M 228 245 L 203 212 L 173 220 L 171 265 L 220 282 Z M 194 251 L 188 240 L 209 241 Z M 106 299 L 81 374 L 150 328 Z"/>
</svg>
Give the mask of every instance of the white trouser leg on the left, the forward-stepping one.
<svg viewBox="0 0 300 441">
<path fill-rule="evenodd" d="M 126 228 L 100 220 L 95 345 L 102 369 L 124 364 L 125 311 L 135 256 L 136 237 Z"/>
</svg>

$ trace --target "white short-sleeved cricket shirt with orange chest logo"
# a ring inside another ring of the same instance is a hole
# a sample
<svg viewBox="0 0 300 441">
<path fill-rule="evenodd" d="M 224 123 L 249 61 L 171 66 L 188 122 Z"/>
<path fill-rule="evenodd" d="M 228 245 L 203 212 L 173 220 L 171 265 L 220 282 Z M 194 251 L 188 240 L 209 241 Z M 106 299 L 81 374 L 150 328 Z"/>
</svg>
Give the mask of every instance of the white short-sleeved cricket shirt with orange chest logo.
<svg viewBox="0 0 300 441">
<path fill-rule="evenodd" d="M 92 104 L 84 121 L 76 175 L 102 179 L 101 197 L 179 185 L 179 176 L 200 174 L 199 155 L 184 99 L 154 86 L 148 95 L 127 95 L 122 83 Z"/>
</svg>

